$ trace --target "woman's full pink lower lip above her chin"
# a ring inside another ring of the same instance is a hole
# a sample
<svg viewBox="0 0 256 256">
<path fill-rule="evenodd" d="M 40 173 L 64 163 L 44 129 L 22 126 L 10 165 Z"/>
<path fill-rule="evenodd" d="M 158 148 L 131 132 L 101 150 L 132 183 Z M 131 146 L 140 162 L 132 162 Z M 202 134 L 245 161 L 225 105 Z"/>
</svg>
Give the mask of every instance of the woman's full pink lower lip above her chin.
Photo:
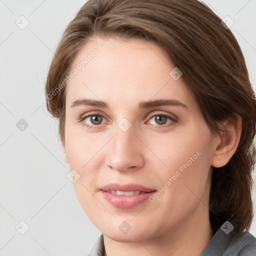
<svg viewBox="0 0 256 256">
<path fill-rule="evenodd" d="M 155 191 L 152 191 L 135 195 L 117 195 L 104 190 L 100 190 L 100 192 L 106 201 L 117 208 L 135 207 L 155 193 Z"/>
</svg>

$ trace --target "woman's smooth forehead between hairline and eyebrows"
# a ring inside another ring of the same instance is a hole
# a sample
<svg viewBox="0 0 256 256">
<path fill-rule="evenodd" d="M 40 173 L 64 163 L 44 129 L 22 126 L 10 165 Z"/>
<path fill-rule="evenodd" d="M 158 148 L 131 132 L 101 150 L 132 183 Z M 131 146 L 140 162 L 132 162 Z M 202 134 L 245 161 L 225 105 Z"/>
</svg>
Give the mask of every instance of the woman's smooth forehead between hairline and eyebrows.
<svg viewBox="0 0 256 256">
<path fill-rule="evenodd" d="M 193 104 L 182 79 L 169 72 L 175 66 L 151 41 L 94 37 L 77 52 L 70 70 L 66 101 L 83 96 L 131 104 L 157 98 L 175 98 Z"/>
</svg>

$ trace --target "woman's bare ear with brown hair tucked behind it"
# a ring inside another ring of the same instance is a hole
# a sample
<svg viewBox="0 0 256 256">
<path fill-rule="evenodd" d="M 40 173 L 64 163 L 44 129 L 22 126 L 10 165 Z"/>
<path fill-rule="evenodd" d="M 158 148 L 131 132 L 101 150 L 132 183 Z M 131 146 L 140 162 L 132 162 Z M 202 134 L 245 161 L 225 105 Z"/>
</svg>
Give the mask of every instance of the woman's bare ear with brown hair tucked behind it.
<svg viewBox="0 0 256 256">
<path fill-rule="evenodd" d="M 240 115 L 233 114 L 227 120 L 221 122 L 225 127 L 221 131 L 221 136 L 214 139 L 214 151 L 211 159 L 211 165 L 214 167 L 222 167 L 234 154 L 242 131 L 242 118 Z"/>
</svg>

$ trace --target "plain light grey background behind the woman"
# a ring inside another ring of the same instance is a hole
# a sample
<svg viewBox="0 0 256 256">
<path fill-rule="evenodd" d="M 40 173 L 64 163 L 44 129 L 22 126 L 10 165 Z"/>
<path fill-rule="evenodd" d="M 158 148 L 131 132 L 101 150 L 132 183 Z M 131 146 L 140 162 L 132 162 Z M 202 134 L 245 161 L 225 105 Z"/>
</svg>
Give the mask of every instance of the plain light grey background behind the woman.
<svg viewBox="0 0 256 256">
<path fill-rule="evenodd" d="M 230 28 L 256 81 L 256 1 L 205 0 Z M 64 28 L 85 0 L 0 0 L 0 255 L 85 255 L 100 235 L 66 178 L 44 84 Z M 24 18 L 20 18 L 23 15 Z M 21 29 L 19 26 L 29 24 Z M 16 21 L 17 20 L 17 21 Z M 15 23 L 17 22 L 19 26 Z M 24 118 L 27 128 L 16 123 Z M 255 182 L 254 176 L 254 182 Z M 253 192 L 256 208 L 255 187 Z M 20 234 L 17 230 L 29 229 Z M 15 229 L 15 226 L 17 229 Z M 256 221 L 250 232 L 256 236 Z"/>
</svg>

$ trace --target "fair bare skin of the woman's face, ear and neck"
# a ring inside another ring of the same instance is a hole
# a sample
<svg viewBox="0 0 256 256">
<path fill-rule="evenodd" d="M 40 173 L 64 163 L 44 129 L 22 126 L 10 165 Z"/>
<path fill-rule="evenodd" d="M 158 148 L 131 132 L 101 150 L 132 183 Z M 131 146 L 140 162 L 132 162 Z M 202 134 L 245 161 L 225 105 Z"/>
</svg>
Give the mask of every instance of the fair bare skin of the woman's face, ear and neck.
<svg viewBox="0 0 256 256">
<path fill-rule="evenodd" d="M 78 200 L 103 233 L 104 255 L 200 255 L 213 236 L 208 214 L 211 166 L 225 165 L 235 152 L 240 116 L 223 122 L 228 129 L 221 136 L 213 135 L 182 76 L 172 79 L 174 65 L 153 42 L 94 37 L 79 50 L 71 68 L 94 48 L 98 54 L 66 87 L 62 147 L 70 169 L 80 175 L 73 183 Z M 85 97 L 105 101 L 108 108 L 71 107 Z M 140 101 L 170 98 L 188 107 L 138 109 Z M 78 122 L 94 112 L 103 116 L 100 124 L 90 117 Z M 167 118 L 161 124 L 154 114 L 169 114 L 177 121 Z M 123 118 L 131 124 L 127 131 L 118 126 Z M 158 190 L 197 151 L 200 156 L 154 202 L 122 209 L 99 192 L 112 182 Z M 118 229 L 123 221 L 131 226 L 125 234 Z"/>
</svg>

